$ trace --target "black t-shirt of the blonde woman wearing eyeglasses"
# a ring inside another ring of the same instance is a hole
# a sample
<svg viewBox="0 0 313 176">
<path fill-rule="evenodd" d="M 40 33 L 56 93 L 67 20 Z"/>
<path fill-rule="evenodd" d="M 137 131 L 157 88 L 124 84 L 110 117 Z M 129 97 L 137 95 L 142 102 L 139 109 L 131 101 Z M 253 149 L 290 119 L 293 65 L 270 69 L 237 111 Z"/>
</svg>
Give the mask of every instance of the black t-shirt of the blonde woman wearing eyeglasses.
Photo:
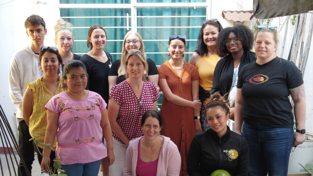
<svg viewBox="0 0 313 176">
<path fill-rule="evenodd" d="M 159 71 L 156 68 L 156 64 L 153 62 L 152 59 L 147 58 L 147 63 L 148 63 L 148 75 L 158 75 Z M 110 68 L 109 76 L 118 76 L 118 69 L 121 66 L 121 60 L 115 60 Z M 126 80 L 125 75 L 118 76 L 116 80 L 116 84 L 120 84 Z M 147 79 L 148 80 L 148 79 Z"/>
</svg>

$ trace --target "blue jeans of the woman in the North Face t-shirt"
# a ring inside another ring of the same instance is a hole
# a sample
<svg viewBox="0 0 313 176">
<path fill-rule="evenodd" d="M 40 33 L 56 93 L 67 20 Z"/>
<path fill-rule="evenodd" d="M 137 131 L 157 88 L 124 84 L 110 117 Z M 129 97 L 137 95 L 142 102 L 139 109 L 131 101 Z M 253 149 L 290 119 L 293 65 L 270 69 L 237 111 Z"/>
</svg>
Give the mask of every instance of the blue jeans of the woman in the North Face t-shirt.
<svg viewBox="0 0 313 176">
<path fill-rule="evenodd" d="M 244 123 L 244 138 L 249 144 L 250 176 L 287 176 L 293 144 L 293 128 Z"/>
</svg>

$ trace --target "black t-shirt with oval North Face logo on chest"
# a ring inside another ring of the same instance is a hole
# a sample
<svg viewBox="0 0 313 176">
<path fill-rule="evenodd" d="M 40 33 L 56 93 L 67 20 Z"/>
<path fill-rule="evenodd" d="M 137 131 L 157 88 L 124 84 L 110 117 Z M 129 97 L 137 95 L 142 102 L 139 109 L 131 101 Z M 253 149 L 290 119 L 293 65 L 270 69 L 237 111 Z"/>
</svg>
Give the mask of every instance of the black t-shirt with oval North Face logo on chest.
<svg viewBox="0 0 313 176">
<path fill-rule="evenodd" d="M 245 65 L 237 83 L 244 97 L 244 121 L 273 127 L 293 127 L 289 89 L 302 84 L 302 73 L 291 61 L 276 57 L 263 65 L 256 62 Z"/>
</svg>

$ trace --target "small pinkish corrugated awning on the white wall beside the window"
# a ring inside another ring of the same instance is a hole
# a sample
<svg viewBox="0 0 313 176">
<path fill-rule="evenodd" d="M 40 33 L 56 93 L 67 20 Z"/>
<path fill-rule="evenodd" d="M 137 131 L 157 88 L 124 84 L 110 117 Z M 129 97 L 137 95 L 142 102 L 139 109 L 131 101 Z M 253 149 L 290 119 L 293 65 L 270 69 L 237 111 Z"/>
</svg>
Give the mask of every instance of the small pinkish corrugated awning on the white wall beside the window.
<svg viewBox="0 0 313 176">
<path fill-rule="evenodd" d="M 222 17 L 233 21 L 250 21 L 252 10 L 247 11 L 222 11 Z"/>
</svg>

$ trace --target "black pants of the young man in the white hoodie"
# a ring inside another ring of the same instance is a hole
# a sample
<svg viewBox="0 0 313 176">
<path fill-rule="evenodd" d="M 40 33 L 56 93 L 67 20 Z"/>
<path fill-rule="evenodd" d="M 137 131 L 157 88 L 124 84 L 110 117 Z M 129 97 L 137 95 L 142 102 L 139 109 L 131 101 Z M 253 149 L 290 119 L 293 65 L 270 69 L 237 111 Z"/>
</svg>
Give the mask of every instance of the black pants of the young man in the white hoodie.
<svg viewBox="0 0 313 176">
<path fill-rule="evenodd" d="M 30 173 L 32 172 L 32 164 L 35 160 L 33 141 L 29 141 L 31 138 L 32 137 L 29 134 L 29 129 L 26 122 L 24 120 L 22 122 L 18 122 L 18 145 L 20 147 L 20 151 L 22 157 L 24 158 L 26 167 Z M 20 160 L 18 164 L 18 176 L 26 176 L 22 160 Z"/>
</svg>

